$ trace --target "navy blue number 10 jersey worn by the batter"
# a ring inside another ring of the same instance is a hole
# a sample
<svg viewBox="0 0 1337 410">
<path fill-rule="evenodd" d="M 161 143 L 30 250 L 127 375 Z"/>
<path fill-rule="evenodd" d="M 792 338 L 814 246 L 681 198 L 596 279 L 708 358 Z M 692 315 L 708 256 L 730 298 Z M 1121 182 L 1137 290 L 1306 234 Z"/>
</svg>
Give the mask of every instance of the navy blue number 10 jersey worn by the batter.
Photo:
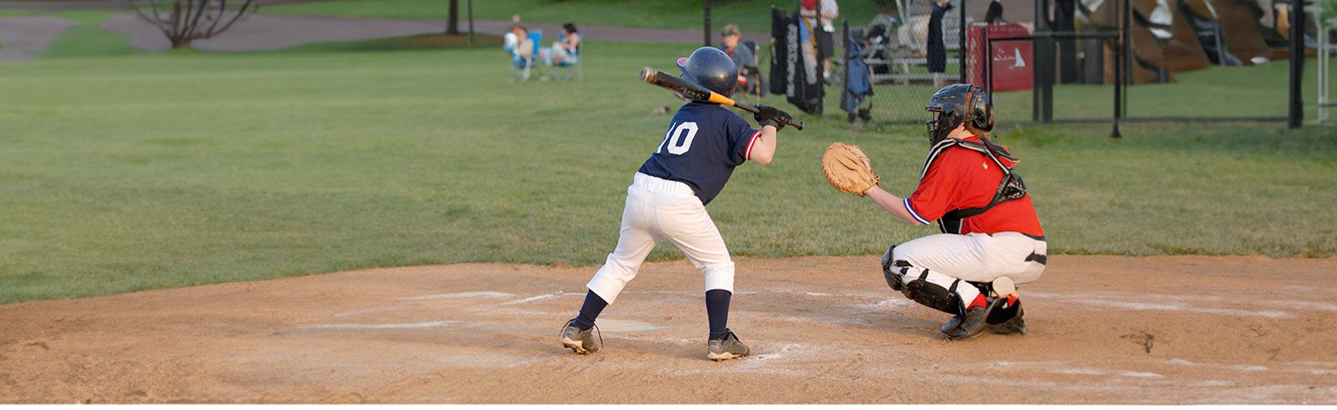
<svg viewBox="0 0 1337 410">
<path fill-rule="evenodd" d="M 725 188 L 734 167 L 751 156 L 761 132 L 729 108 L 691 101 L 678 108 L 663 142 L 640 174 L 686 183 L 702 204 Z"/>
</svg>

